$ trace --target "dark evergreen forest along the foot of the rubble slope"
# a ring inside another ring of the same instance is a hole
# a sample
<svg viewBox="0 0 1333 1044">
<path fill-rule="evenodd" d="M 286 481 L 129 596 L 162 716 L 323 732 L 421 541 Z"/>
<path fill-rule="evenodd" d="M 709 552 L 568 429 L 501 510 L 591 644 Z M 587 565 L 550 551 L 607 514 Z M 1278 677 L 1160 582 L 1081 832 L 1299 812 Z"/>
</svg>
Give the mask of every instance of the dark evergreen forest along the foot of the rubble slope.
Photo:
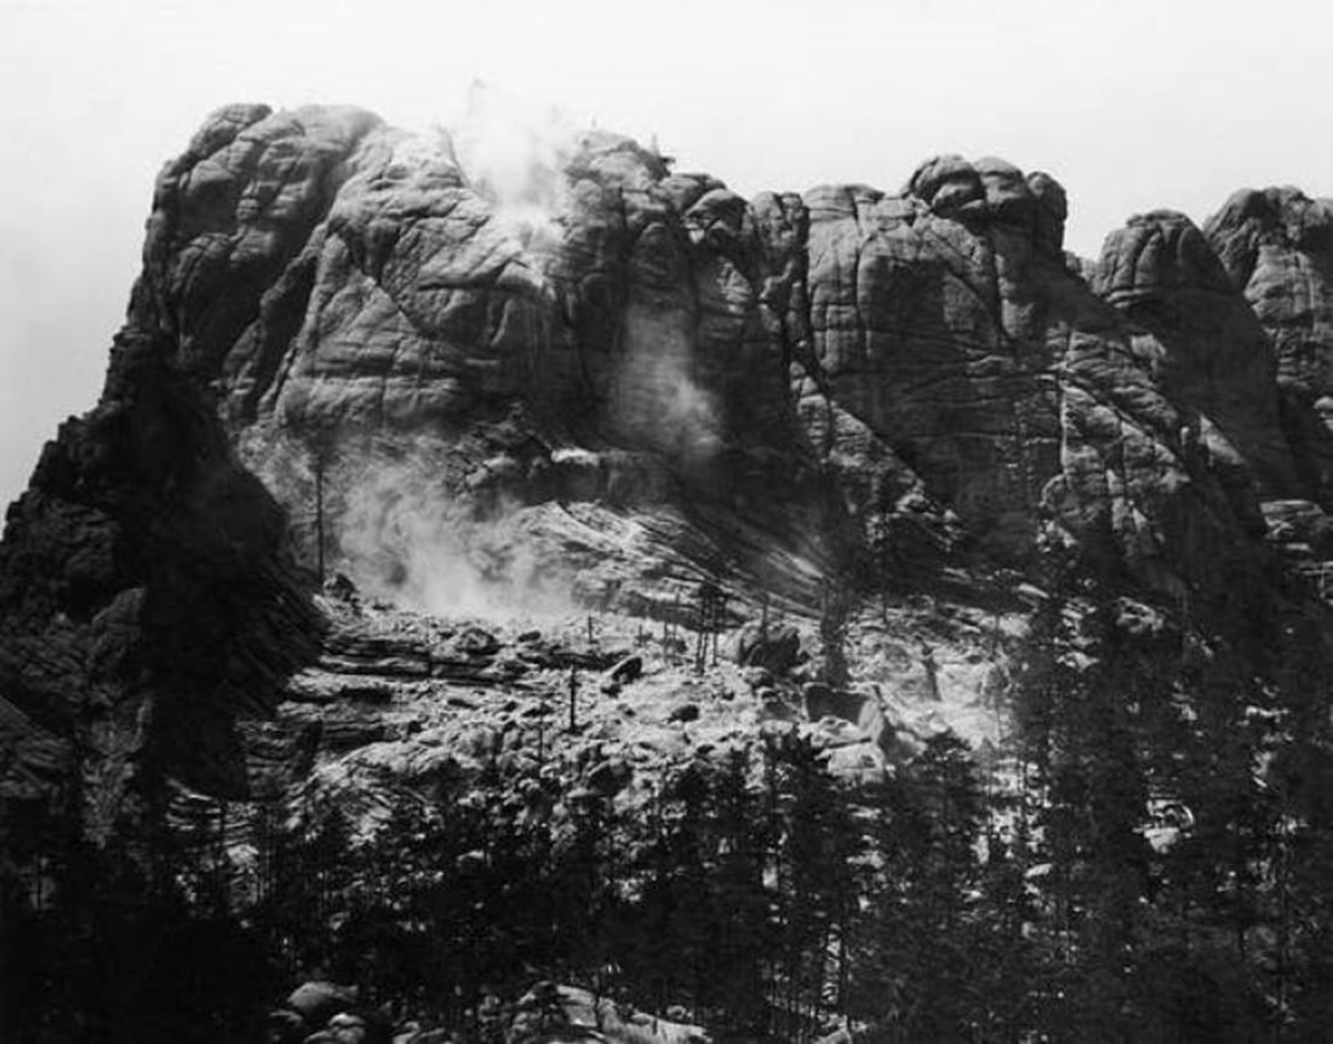
<svg viewBox="0 0 1333 1044">
<path fill-rule="evenodd" d="M 4 1040 L 260 1040 L 311 976 L 459 1040 L 503 1036 L 481 999 L 544 977 L 718 1040 L 1318 1039 L 1318 621 L 1261 593 L 1234 612 L 1250 647 L 1204 648 L 1061 592 L 1006 749 L 937 736 L 877 785 L 794 732 L 697 757 L 633 813 L 547 768 L 444 775 L 373 837 L 260 809 L 244 865 L 217 837 L 9 817 Z"/>
</svg>

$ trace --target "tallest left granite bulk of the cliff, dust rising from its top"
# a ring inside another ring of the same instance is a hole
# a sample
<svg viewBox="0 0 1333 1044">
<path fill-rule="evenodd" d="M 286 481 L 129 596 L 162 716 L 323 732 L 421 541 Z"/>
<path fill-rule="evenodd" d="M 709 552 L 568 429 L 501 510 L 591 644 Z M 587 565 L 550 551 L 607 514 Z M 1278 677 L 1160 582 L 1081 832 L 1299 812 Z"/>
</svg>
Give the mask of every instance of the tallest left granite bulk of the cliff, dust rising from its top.
<svg viewBox="0 0 1333 1044">
<path fill-rule="evenodd" d="M 685 457 L 770 437 L 782 375 L 753 357 L 770 344 L 745 201 L 612 135 L 580 140 L 563 176 L 564 211 L 525 215 L 447 139 L 227 109 L 159 180 L 145 273 L 233 428 L 401 432 L 521 396 L 585 437 Z"/>
</svg>

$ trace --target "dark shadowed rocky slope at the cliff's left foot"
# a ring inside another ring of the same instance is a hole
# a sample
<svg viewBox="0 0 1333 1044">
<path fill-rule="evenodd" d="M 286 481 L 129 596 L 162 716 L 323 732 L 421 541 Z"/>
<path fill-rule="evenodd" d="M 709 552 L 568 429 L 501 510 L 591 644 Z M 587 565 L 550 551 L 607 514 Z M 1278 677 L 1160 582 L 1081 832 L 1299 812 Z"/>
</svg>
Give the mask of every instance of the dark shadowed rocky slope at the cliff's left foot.
<svg viewBox="0 0 1333 1044">
<path fill-rule="evenodd" d="M 248 796 L 236 723 L 272 711 L 321 627 L 277 503 L 141 337 L 120 336 L 119 389 L 47 445 L 0 545 L 0 799 L 73 776 L 92 837 L 165 776 Z"/>
</svg>

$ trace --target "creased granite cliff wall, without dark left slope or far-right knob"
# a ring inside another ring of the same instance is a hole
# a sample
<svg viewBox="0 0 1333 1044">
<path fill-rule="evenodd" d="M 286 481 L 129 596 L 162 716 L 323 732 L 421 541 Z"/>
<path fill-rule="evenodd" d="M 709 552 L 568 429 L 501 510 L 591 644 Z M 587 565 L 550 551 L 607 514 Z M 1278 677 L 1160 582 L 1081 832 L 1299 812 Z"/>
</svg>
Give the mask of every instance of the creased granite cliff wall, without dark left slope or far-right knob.
<svg viewBox="0 0 1333 1044">
<path fill-rule="evenodd" d="M 1053 524 L 1154 576 L 1196 552 L 1176 516 L 1230 540 L 1301 493 L 1264 331 L 1188 223 L 1136 219 L 1093 293 L 1064 191 L 1001 160 L 748 204 L 591 133 L 548 173 L 535 213 L 445 137 L 215 116 L 159 183 L 147 273 L 247 459 L 372 433 L 457 464 L 460 432 L 520 413 L 473 485 L 762 512 L 813 469 L 862 535 L 905 519 L 1021 563 Z"/>
</svg>

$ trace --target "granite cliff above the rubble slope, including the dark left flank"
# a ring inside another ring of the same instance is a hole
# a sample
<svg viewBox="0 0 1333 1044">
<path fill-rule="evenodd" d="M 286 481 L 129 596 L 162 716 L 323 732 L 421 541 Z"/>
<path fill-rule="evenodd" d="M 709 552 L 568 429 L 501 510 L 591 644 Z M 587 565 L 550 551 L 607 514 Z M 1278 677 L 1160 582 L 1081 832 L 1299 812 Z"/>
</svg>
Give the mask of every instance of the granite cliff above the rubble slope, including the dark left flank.
<svg viewBox="0 0 1333 1044">
<path fill-rule="evenodd" d="M 323 565 L 437 612 L 571 561 L 624 613 L 705 577 L 981 605 L 1056 561 L 1206 605 L 1329 528 L 1328 204 L 1136 217 L 1092 269 L 1001 160 L 746 201 L 591 132 L 521 173 L 263 105 L 164 168 L 103 400 L 0 545 L 9 792 L 92 749 L 111 804 L 244 795 Z"/>
</svg>

